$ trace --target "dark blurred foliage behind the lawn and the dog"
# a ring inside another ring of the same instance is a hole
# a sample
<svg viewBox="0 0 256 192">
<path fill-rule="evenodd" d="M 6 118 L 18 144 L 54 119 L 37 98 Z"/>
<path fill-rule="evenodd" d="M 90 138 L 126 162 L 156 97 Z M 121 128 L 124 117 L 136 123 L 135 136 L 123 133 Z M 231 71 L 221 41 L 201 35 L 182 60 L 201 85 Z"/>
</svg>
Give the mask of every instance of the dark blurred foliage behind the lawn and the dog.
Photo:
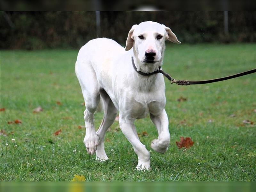
<svg viewBox="0 0 256 192">
<path fill-rule="evenodd" d="M 125 44 L 133 24 L 152 20 L 172 29 L 182 43 L 256 42 L 256 12 L 100 12 L 100 32 L 94 11 L 0 12 L 0 49 L 80 48 L 97 37 Z"/>
</svg>

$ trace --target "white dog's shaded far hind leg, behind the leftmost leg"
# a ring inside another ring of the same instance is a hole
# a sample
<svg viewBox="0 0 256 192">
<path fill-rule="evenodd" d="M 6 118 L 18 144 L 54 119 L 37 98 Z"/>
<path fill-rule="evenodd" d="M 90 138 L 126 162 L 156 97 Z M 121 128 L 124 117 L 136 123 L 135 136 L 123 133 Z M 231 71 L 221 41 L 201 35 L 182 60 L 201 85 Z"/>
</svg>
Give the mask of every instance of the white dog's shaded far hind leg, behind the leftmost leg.
<svg viewBox="0 0 256 192">
<path fill-rule="evenodd" d="M 104 149 L 104 137 L 108 128 L 115 121 L 117 109 L 104 89 L 100 89 L 100 97 L 104 103 L 104 117 L 98 131 L 96 132 L 100 138 L 98 148 L 96 150 L 96 160 L 105 161 L 108 160 L 108 156 Z"/>
</svg>

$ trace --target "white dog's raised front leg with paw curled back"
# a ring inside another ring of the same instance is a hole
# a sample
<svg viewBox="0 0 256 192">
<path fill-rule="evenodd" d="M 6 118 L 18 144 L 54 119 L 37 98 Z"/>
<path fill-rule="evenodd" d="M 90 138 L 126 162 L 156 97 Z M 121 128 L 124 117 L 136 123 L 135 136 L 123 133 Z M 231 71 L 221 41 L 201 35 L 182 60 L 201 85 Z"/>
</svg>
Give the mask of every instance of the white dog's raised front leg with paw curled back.
<svg viewBox="0 0 256 192">
<path fill-rule="evenodd" d="M 158 132 L 158 138 L 151 142 L 150 147 L 158 153 L 165 153 L 170 144 L 169 121 L 165 109 L 160 114 L 150 114 L 150 118 Z"/>
</svg>

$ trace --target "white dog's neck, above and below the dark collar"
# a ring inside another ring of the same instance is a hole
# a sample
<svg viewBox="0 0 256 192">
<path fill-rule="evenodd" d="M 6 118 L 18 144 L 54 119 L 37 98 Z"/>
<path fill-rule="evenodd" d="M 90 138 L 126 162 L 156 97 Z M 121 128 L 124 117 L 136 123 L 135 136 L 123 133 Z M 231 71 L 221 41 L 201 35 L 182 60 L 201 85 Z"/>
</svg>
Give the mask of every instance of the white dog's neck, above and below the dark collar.
<svg viewBox="0 0 256 192">
<path fill-rule="evenodd" d="M 132 57 L 134 59 L 134 65 L 137 68 L 138 71 L 141 71 L 143 73 L 152 73 L 154 71 L 156 71 L 159 66 L 161 66 L 162 61 L 157 62 L 157 63 L 142 63 L 140 62 L 140 60 L 138 59 L 138 56 L 136 54 L 132 54 Z M 131 67 L 132 66 L 132 60 L 131 60 Z M 159 75 L 157 74 L 153 74 L 150 76 L 143 76 L 140 75 L 138 72 L 135 71 L 135 69 L 132 69 L 132 74 L 135 77 L 134 79 L 134 84 L 132 86 L 136 86 L 136 88 L 140 91 L 143 92 L 148 92 L 151 90 L 152 86 L 155 85 L 155 81 L 157 76 Z"/>
</svg>

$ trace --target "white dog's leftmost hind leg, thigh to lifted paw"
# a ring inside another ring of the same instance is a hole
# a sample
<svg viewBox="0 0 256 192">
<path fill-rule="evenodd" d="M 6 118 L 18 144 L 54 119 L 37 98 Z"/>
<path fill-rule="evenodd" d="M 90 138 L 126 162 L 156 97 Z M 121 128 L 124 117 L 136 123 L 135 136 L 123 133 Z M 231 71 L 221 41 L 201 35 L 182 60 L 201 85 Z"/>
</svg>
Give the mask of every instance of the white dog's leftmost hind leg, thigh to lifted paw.
<svg viewBox="0 0 256 192">
<path fill-rule="evenodd" d="M 95 71 L 88 61 L 76 62 L 75 70 L 82 89 L 86 107 L 84 111 L 84 144 L 87 152 L 93 155 L 97 150 L 100 140 L 99 136 L 96 134 L 93 123 L 93 114 L 100 101 L 100 86 Z"/>
</svg>

